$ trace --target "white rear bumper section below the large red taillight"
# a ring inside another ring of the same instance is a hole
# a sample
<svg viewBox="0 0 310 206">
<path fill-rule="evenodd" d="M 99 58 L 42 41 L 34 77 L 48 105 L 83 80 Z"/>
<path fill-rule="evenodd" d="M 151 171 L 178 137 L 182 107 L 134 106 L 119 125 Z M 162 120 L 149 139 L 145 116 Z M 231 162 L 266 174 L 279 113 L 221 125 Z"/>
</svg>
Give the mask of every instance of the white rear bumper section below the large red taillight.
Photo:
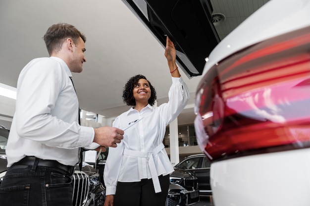
<svg viewBox="0 0 310 206">
<path fill-rule="evenodd" d="M 250 155 L 211 164 L 216 206 L 309 206 L 310 149 Z"/>
</svg>

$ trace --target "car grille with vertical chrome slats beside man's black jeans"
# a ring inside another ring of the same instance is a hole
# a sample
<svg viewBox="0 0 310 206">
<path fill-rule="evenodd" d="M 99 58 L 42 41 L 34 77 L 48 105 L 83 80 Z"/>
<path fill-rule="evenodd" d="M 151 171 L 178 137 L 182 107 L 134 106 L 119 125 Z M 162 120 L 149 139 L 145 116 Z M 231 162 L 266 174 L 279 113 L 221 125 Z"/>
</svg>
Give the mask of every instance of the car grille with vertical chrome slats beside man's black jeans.
<svg viewBox="0 0 310 206">
<path fill-rule="evenodd" d="M 73 174 L 73 206 L 84 206 L 89 192 L 89 176 L 83 171 L 76 170 Z"/>
</svg>

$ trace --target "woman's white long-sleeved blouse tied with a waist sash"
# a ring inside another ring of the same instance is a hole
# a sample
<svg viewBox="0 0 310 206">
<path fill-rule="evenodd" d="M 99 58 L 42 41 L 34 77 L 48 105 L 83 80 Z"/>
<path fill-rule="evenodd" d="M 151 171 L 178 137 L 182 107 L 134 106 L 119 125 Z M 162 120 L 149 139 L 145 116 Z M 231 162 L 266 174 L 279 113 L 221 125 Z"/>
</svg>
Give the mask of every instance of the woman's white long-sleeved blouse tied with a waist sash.
<svg viewBox="0 0 310 206">
<path fill-rule="evenodd" d="M 162 142 L 166 126 L 189 101 L 189 91 L 181 77 L 172 77 L 168 97 L 168 103 L 157 107 L 148 104 L 140 112 L 130 108 L 116 117 L 113 126 L 120 129 L 140 121 L 124 131 L 124 139 L 116 148 L 109 148 L 103 173 L 106 195 L 115 194 L 118 181 L 137 182 L 153 177 L 154 182 L 155 175 L 174 171 Z"/>
</svg>

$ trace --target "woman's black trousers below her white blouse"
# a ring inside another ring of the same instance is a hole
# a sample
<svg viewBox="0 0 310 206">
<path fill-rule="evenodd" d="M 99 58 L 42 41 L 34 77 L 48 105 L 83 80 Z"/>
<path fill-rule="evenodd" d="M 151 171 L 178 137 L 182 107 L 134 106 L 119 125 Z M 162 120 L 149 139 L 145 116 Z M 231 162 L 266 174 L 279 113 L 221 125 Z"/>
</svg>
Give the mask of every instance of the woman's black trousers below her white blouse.
<svg viewBox="0 0 310 206">
<path fill-rule="evenodd" d="M 140 182 L 117 182 L 114 206 L 165 206 L 169 175 L 159 177 L 160 193 L 155 193 L 152 179 Z"/>
</svg>

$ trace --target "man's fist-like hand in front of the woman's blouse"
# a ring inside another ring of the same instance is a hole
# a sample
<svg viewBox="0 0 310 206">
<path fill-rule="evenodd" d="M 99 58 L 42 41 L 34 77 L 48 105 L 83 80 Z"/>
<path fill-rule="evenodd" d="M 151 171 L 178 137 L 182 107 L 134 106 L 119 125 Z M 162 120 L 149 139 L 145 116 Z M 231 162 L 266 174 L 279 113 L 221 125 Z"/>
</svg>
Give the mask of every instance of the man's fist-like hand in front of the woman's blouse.
<svg viewBox="0 0 310 206">
<path fill-rule="evenodd" d="M 116 127 L 98 127 L 94 128 L 94 130 L 95 130 L 94 142 L 98 143 L 99 145 L 105 148 L 107 147 L 116 148 L 117 147 L 116 143 L 120 143 L 120 141 L 124 138 L 123 137 L 124 131 Z"/>
</svg>

